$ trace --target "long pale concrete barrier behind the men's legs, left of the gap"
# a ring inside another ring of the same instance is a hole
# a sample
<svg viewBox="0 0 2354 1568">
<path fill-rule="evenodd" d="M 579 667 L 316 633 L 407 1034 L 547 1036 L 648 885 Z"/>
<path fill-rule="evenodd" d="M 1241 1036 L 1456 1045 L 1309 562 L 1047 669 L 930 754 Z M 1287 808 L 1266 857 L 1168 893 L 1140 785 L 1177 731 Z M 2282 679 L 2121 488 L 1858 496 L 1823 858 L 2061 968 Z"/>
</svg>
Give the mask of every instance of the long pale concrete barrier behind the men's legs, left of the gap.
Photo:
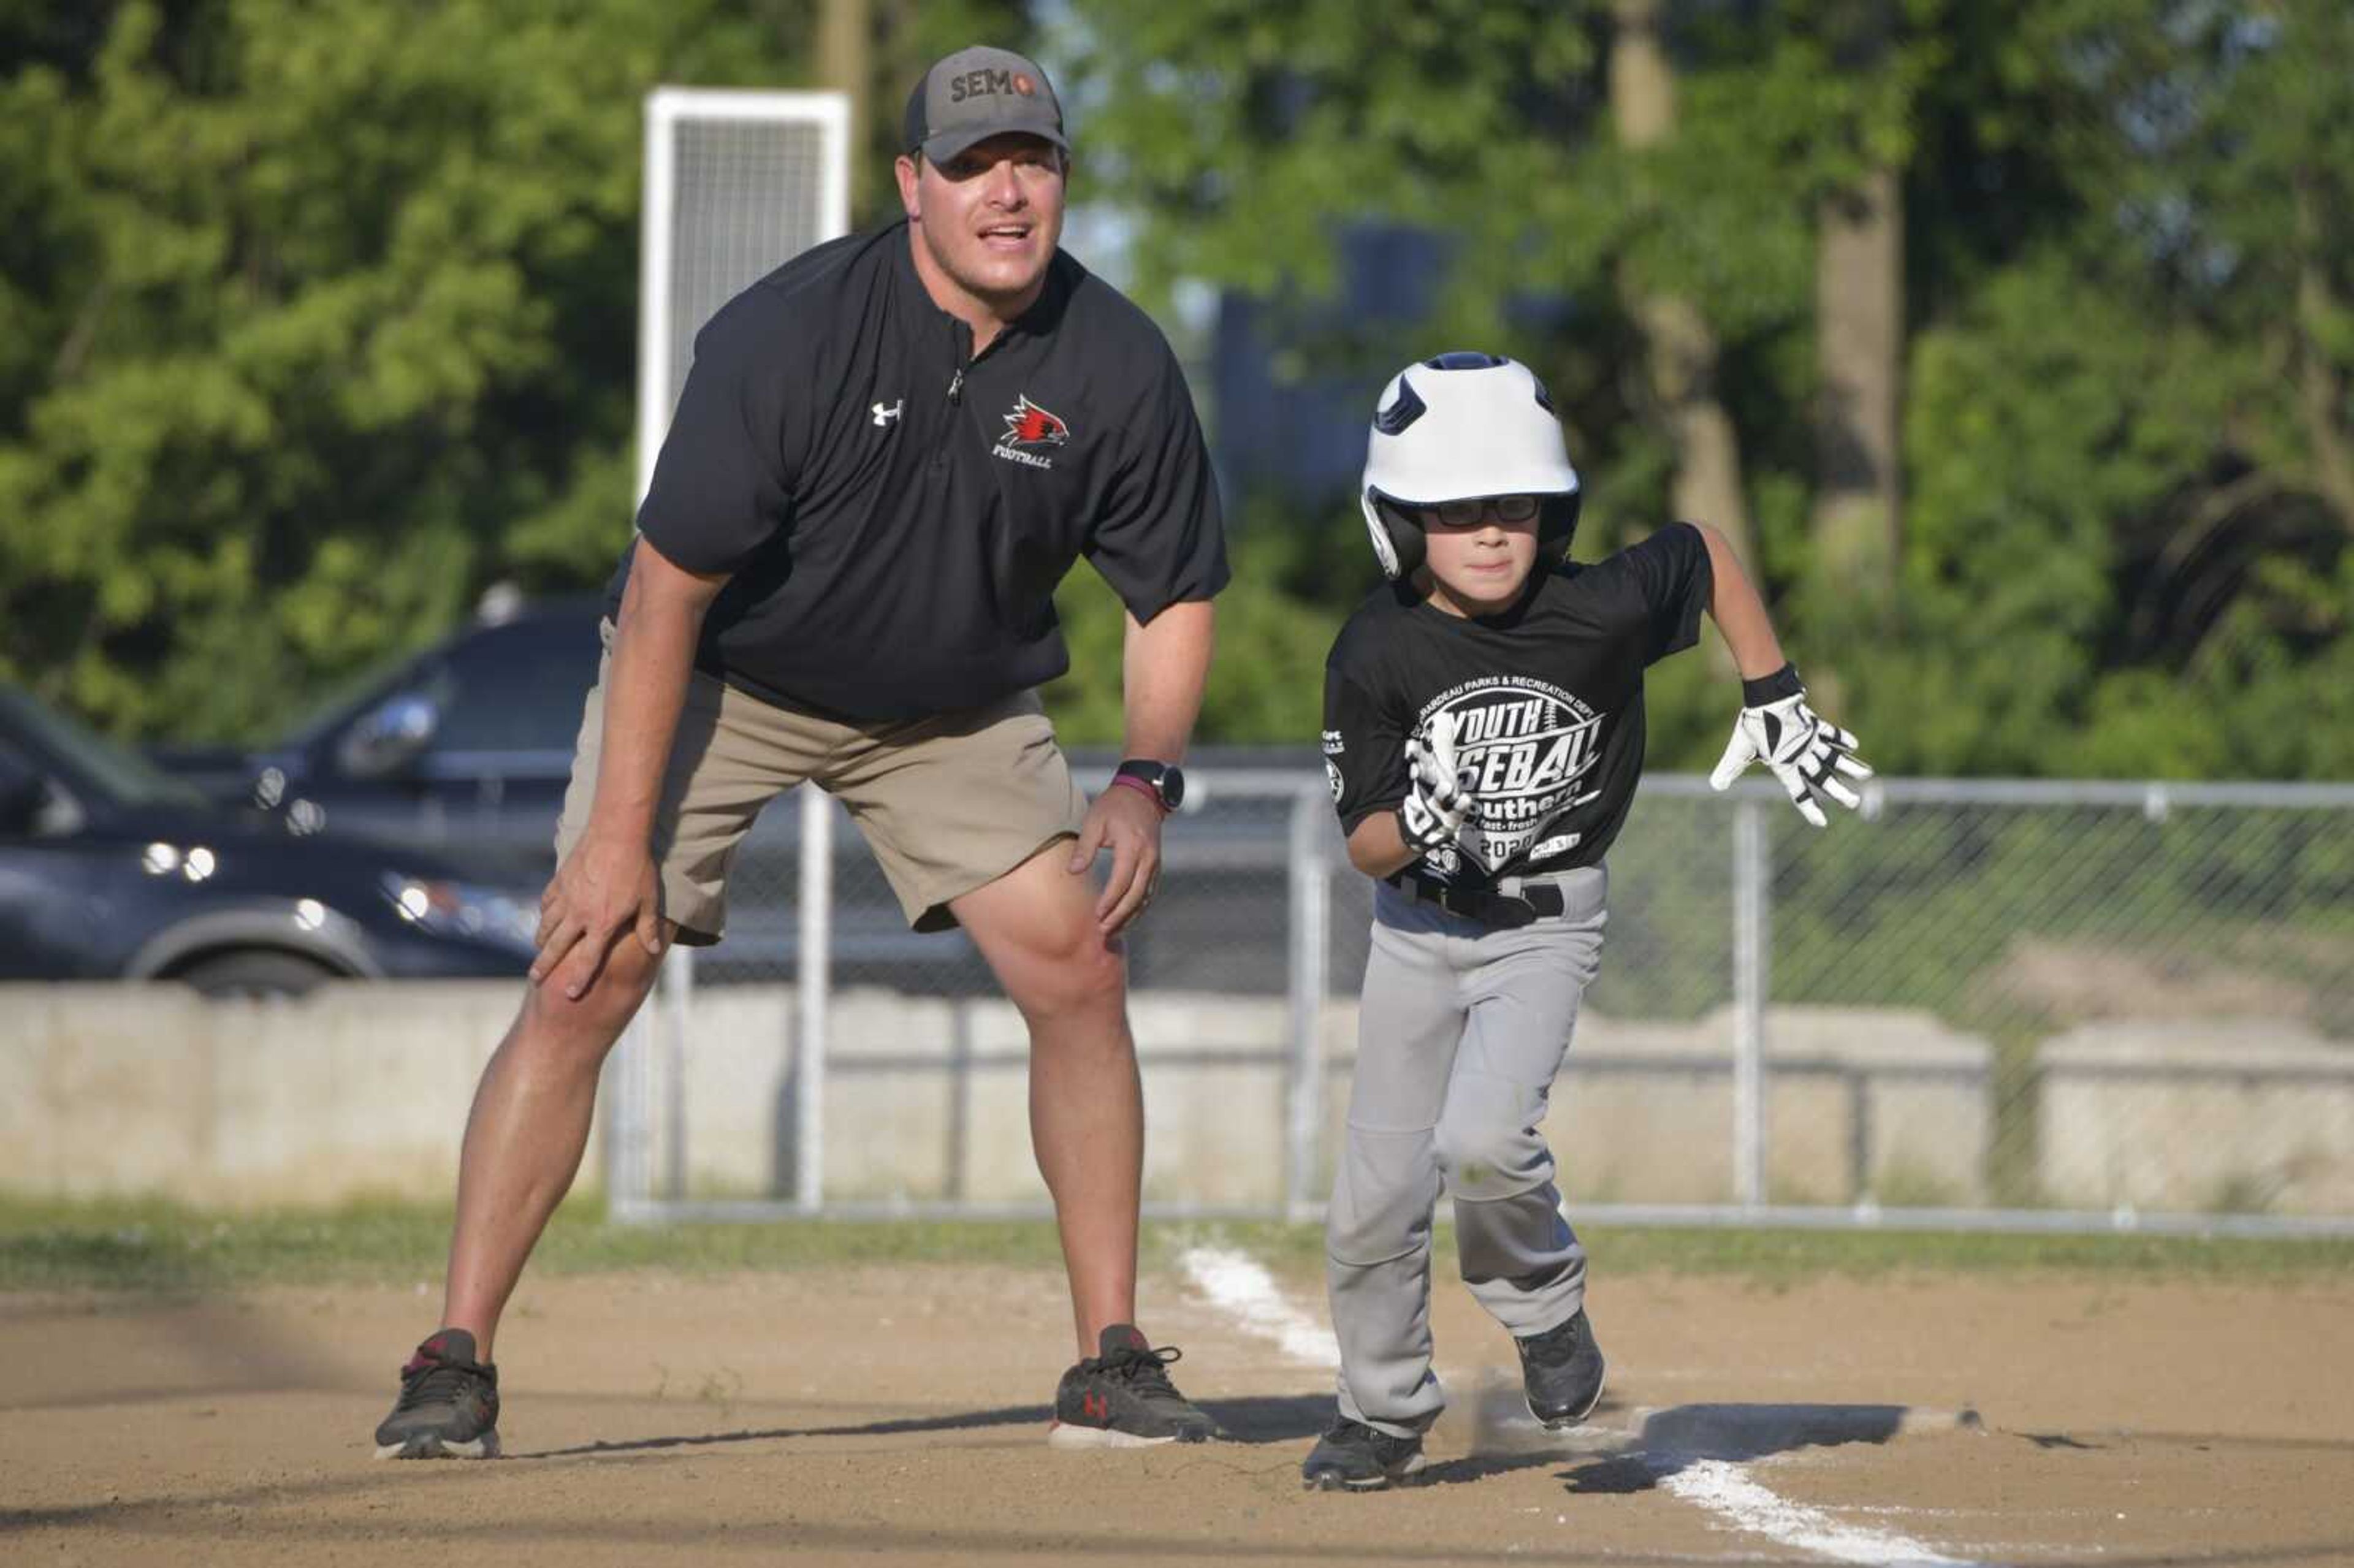
<svg viewBox="0 0 2354 1568">
<path fill-rule="evenodd" d="M 0 1189 L 191 1203 L 440 1196 L 516 986 L 327 986 L 299 1003 L 205 1003 L 179 986 L 0 986 Z M 685 1062 L 692 1194 L 789 1187 L 793 994 L 701 989 Z M 1274 1205 L 1283 1194 L 1278 1001 L 1139 994 L 1149 1198 Z M 1984 1043 L 1928 1015 L 1775 1010 L 1770 1182 L 1848 1203 L 1860 1180 L 1980 1196 Z M 1346 1114 L 1356 1003 L 1323 1019 L 1328 1151 Z M 1733 1022 L 1587 1017 L 1547 1135 L 1572 1196 L 1733 1196 Z M 845 991 L 833 1005 L 826 1189 L 864 1201 L 1036 1203 L 1026 1041 L 1003 1001 Z M 666 1125 L 657 1104 L 654 1125 Z M 591 1149 L 596 1168 L 603 1140 Z M 1330 1161 L 1330 1154 L 1325 1156 Z M 666 1170 L 654 1149 L 654 1170 Z M 1330 1182 L 1318 1172 L 1316 1191 Z"/>
</svg>

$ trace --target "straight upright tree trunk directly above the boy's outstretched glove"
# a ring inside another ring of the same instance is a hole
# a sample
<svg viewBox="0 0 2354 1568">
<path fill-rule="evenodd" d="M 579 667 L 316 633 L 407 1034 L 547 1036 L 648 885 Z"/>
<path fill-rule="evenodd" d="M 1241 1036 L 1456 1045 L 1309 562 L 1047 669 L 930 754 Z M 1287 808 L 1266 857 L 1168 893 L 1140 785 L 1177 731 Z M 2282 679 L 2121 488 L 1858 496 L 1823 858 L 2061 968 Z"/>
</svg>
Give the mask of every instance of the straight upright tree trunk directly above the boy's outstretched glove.
<svg viewBox="0 0 2354 1568">
<path fill-rule="evenodd" d="M 1831 596 L 1886 614 L 1904 516 L 1904 198 L 1890 167 L 1817 212 L 1815 334 L 1815 570 Z"/>
</svg>

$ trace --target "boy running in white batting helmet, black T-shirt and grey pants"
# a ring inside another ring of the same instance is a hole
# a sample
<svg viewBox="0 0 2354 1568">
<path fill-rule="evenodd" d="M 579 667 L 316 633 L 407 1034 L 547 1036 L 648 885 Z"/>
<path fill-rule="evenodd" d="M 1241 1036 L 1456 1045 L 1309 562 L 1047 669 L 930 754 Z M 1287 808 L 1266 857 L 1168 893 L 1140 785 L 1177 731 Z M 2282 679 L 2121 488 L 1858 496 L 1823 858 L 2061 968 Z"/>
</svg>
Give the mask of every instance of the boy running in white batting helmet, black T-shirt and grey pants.
<svg viewBox="0 0 2354 1568">
<path fill-rule="evenodd" d="M 1455 1196 L 1464 1283 L 1521 1351 L 1530 1413 L 1582 1422 L 1603 1389 L 1587 1260 L 1537 1135 L 1603 937 L 1603 855 L 1643 768 L 1643 669 L 1707 607 L 1744 676 L 1711 777 L 1766 760 L 1808 822 L 1855 805 L 1855 737 L 1806 706 L 1725 539 L 1676 523 L 1565 563 L 1577 471 L 1544 386 L 1445 353 L 1382 393 L 1365 525 L 1391 579 L 1325 662 L 1325 770 L 1349 862 L 1379 878 L 1349 1140 L 1325 1231 L 1339 1420 L 1311 1488 L 1422 1469 L 1431 1210 Z"/>
</svg>

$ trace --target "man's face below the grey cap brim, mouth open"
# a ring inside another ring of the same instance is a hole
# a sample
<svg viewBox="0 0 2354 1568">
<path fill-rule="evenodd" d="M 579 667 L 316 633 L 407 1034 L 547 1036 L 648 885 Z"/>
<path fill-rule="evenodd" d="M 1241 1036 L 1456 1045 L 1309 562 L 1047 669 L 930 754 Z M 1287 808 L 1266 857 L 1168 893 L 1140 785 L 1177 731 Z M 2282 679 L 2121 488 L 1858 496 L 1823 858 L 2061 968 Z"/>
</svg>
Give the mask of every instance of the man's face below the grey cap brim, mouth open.
<svg viewBox="0 0 2354 1568">
<path fill-rule="evenodd" d="M 1062 151 L 1010 132 L 956 158 L 899 158 L 899 202 L 949 283 L 991 306 L 1026 306 L 1062 242 Z"/>
</svg>

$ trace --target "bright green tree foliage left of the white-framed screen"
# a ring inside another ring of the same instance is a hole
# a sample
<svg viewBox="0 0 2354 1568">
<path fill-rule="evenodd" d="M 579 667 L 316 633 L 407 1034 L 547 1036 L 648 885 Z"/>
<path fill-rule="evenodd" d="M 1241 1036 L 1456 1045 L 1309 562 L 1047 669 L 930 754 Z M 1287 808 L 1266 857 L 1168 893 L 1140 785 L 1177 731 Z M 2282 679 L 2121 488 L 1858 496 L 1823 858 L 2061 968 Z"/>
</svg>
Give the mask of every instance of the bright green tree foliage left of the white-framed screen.
<svg viewBox="0 0 2354 1568">
<path fill-rule="evenodd" d="M 92 9 L 0 82 L 0 676 L 254 735 L 497 577 L 600 577 L 638 106 L 796 80 L 805 7 Z"/>
</svg>

